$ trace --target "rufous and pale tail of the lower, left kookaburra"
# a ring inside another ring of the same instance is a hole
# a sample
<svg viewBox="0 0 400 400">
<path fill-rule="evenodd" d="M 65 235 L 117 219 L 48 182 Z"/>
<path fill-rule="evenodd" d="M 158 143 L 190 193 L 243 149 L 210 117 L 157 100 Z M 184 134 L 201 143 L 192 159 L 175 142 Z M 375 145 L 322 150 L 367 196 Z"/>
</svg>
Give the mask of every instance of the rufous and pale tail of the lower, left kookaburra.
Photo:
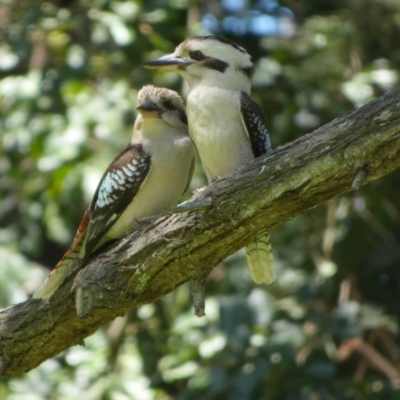
<svg viewBox="0 0 400 400">
<path fill-rule="evenodd" d="M 38 289 L 36 289 L 32 296 L 34 299 L 48 299 L 74 269 L 77 262 L 80 260 L 80 252 L 84 244 L 83 239 L 85 237 L 85 232 L 89 225 L 89 221 L 90 211 L 87 210 L 82 218 L 81 223 L 79 224 L 71 247 L 50 272 L 50 275 L 47 277 L 47 279 Z"/>
</svg>

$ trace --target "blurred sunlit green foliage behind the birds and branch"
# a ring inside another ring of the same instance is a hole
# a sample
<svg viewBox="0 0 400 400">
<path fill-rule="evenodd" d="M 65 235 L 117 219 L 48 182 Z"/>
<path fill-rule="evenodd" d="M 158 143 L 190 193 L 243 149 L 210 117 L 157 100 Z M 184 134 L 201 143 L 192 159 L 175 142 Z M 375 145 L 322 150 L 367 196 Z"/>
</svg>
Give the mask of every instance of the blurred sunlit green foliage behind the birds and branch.
<svg viewBox="0 0 400 400">
<path fill-rule="evenodd" d="M 399 80 L 397 0 L 287 0 L 290 37 L 230 36 L 253 56 L 253 96 L 274 146 Z M 0 2 L 0 304 L 26 299 L 71 242 L 108 163 L 130 138 L 137 91 L 179 76 L 140 64 L 203 33 L 219 2 Z M 222 17 L 221 17 L 222 18 Z M 223 32 L 220 32 L 223 33 Z M 377 154 L 379 157 L 379 154 Z M 191 189 L 205 184 L 198 165 Z M 272 232 L 277 282 L 242 252 L 194 317 L 184 285 L 132 310 L 0 398 L 400 398 L 400 173 Z"/>
</svg>

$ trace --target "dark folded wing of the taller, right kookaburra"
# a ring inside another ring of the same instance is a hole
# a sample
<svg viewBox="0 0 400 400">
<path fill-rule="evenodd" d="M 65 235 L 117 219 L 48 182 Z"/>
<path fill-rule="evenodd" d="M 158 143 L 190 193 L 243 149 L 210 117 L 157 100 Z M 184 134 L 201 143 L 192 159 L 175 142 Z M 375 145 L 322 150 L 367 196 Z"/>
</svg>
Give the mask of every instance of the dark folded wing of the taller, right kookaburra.
<svg viewBox="0 0 400 400">
<path fill-rule="evenodd" d="M 254 157 L 259 157 L 271 151 L 271 142 L 264 115 L 258 104 L 245 92 L 240 95 L 240 113 L 251 142 Z"/>
</svg>

